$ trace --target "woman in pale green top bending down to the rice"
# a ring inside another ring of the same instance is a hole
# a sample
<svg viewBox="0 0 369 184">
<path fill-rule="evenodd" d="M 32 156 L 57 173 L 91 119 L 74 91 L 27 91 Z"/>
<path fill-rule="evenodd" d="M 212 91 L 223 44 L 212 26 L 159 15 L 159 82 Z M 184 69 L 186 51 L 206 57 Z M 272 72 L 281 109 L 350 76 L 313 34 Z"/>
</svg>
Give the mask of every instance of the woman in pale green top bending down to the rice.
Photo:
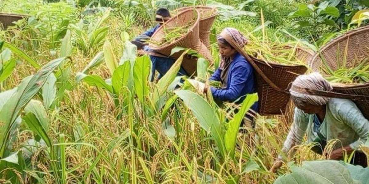
<svg viewBox="0 0 369 184">
<path fill-rule="evenodd" d="M 319 143 L 312 150 L 322 154 L 327 142 L 338 139 L 328 159 L 340 160 L 344 152 L 348 155 L 356 150 L 351 164 L 367 166 L 366 155 L 359 151 L 369 136 L 369 121 L 363 116 L 354 102 L 348 99 L 327 98 L 308 95 L 304 89 L 332 91 L 332 86 L 319 73 L 301 75 L 292 83 L 290 93 L 296 105 L 294 123 L 291 127 L 282 152 L 294 153 L 293 147 L 299 145 L 307 132 L 307 141 Z M 343 148 L 342 148 L 343 146 Z M 292 149 L 292 150 L 291 150 Z M 273 167 L 275 172 L 282 165 L 279 155 Z"/>
</svg>

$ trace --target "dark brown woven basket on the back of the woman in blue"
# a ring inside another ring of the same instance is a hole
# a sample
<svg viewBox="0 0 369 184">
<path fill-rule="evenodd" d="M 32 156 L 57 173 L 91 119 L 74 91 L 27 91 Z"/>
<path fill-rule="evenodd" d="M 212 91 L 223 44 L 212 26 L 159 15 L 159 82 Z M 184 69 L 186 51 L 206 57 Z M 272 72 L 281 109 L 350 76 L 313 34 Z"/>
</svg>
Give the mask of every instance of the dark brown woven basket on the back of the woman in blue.
<svg viewBox="0 0 369 184">
<path fill-rule="evenodd" d="M 297 74 L 307 71 L 305 66 L 285 66 L 275 63 L 266 64 L 265 61 L 252 57 L 255 64 L 263 74 L 270 79 L 279 89 L 274 88 L 267 82 L 261 73 L 256 72 L 256 89 L 259 96 L 259 114 L 262 116 L 284 114 L 290 101 L 288 92 L 290 83 L 294 81 Z"/>
</svg>

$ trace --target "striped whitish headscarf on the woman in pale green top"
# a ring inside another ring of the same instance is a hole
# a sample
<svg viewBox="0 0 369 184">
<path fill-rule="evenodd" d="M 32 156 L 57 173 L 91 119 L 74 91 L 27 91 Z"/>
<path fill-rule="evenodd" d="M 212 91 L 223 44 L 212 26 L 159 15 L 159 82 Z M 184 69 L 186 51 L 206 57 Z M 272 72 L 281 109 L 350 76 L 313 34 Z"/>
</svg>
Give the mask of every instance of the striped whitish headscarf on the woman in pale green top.
<svg viewBox="0 0 369 184">
<path fill-rule="evenodd" d="M 303 92 L 303 89 L 315 89 L 321 91 L 332 91 L 331 84 L 322 77 L 318 72 L 314 72 L 308 75 L 300 75 L 292 82 L 290 93 L 293 102 L 297 105 L 302 102 L 309 103 L 315 106 L 326 105 L 330 98 L 317 95 L 308 95 Z"/>
</svg>

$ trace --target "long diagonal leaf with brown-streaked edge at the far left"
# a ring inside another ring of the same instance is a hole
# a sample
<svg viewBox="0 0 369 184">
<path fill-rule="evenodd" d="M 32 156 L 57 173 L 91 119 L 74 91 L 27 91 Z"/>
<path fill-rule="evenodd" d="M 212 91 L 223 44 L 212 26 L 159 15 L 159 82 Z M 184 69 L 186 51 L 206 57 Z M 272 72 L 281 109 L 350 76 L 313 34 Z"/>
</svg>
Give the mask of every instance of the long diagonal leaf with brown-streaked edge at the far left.
<svg viewBox="0 0 369 184">
<path fill-rule="evenodd" d="M 0 157 L 3 158 L 6 152 L 7 145 L 11 139 L 10 134 L 13 125 L 16 123 L 18 114 L 30 102 L 34 95 L 45 84 L 46 79 L 63 61 L 68 58 L 62 57 L 55 59 L 45 64 L 35 75 L 23 79 L 21 84 L 17 87 L 11 98 L 4 104 L 0 110 L 0 122 L 3 127 L 0 129 Z"/>
</svg>

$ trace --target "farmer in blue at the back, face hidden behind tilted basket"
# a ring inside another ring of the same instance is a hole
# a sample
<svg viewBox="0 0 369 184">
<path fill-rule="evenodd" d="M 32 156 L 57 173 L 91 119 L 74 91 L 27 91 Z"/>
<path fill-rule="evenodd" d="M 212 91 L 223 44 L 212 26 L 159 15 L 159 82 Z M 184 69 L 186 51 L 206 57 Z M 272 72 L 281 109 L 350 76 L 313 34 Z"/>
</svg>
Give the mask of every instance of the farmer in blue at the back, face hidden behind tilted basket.
<svg viewBox="0 0 369 184">
<path fill-rule="evenodd" d="M 169 19 L 170 19 L 169 11 L 165 8 L 159 8 L 159 10 L 156 11 L 156 17 L 155 17 L 155 21 L 159 23 L 154 28 L 151 28 L 147 30 L 146 32 L 144 32 L 143 34 L 137 36 L 137 38 L 135 38 L 132 41 L 132 43 L 137 46 L 137 49 L 143 49 L 146 53 L 154 52 L 148 47 L 148 45 L 145 44 L 145 42 L 146 40 L 150 39 L 151 36 L 154 34 L 154 32 L 162 24 L 165 24 L 165 22 L 168 21 Z M 168 72 L 169 68 L 172 67 L 172 65 L 175 62 L 175 59 L 166 57 L 164 55 L 162 55 L 162 57 L 150 55 L 150 59 L 152 63 L 151 82 L 154 81 L 155 71 L 159 72 L 158 79 L 160 79 L 163 75 L 166 74 L 166 72 Z M 181 67 L 177 75 L 178 76 L 187 75 L 187 72 Z"/>
</svg>

